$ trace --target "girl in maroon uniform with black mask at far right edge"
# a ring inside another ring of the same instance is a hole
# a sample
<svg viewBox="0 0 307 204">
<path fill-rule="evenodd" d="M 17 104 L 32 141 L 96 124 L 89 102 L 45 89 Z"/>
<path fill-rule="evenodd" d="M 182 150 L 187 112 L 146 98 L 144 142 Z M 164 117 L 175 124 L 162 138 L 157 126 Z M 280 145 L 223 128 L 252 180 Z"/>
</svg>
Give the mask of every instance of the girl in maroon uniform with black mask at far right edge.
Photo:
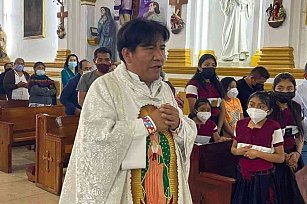
<svg viewBox="0 0 307 204">
<path fill-rule="evenodd" d="M 303 167 L 301 152 L 303 148 L 303 127 L 301 107 L 293 101 L 296 82 L 289 73 L 278 74 L 273 82 L 274 98 L 271 119 L 279 122 L 284 137 L 285 162 L 276 164 L 278 194 L 281 204 L 303 204 L 304 200 L 298 189 L 295 172 Z"/>
</svg>

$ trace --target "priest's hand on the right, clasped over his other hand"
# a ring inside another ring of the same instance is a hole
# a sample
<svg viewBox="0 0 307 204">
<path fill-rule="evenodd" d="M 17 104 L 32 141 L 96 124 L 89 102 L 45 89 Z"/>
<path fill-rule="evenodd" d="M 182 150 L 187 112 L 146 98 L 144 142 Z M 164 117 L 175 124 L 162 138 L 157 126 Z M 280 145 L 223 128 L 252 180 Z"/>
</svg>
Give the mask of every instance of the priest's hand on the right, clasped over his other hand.
<svg viewBox="0 0 307 204">
<path fill-rule="evenodd" d="M 162 118 L 169 129 L 175 130 L 180 124 L 179 111 L 174 106 L 162 104 L 159 108 Z"/>
</svg>

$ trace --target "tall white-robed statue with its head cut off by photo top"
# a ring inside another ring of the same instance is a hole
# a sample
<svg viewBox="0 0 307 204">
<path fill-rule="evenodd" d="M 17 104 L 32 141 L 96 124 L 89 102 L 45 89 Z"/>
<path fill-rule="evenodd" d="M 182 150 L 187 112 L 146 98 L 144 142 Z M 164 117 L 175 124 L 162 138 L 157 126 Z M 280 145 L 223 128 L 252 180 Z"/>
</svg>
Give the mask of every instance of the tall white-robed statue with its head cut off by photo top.
<svg viewBox="0 0 307 204">
<path fill-rule="evenodd" d="M 220 4 L 225 15 L 222 60 L 246 60 L 247 22 L 254 11 L 254 0 L 220 0 Z"/>
</svg>

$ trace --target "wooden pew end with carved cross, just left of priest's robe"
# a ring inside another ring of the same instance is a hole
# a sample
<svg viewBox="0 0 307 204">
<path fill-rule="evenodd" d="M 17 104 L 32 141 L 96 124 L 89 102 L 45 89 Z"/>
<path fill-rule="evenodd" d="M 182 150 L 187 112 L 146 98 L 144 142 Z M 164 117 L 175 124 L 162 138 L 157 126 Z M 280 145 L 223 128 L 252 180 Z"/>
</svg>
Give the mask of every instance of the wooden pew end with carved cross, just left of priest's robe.
<svg viewBox="0 0 307 204">
<path fill-rule="evenodd" d="M 78 116 L 37 115 L 36 186 L 60 195 L 63 166 L 71 153 L 78 123 Z"/>
</svg>

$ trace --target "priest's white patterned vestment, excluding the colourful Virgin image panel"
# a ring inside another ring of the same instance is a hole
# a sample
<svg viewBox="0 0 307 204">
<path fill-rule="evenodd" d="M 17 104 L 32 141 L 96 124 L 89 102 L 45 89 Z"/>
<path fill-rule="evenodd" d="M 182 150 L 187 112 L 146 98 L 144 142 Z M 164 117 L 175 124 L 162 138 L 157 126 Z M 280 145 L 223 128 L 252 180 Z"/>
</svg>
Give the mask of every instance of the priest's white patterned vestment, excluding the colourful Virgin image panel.
<svg viewBox="0 0 307 204">
<path fill-rule="evenodd" d="M 159 79 L 148 87 L 123 63 L 114 72 L 99 77 L 82 107 L 60 204 L 133 203 L 130 169 L 145 168 L 148 136 L 142 119 L 137 119 L 139 110 L 147 104 L 159 107 L 165 103 L 178 108 L 166 83 Z M 181 111 L 180 118 L 182 126 L 177 134 L 173 133 L 178 204 L 190 204 L 190 153 L 197 130 Z"/>
</svg>

